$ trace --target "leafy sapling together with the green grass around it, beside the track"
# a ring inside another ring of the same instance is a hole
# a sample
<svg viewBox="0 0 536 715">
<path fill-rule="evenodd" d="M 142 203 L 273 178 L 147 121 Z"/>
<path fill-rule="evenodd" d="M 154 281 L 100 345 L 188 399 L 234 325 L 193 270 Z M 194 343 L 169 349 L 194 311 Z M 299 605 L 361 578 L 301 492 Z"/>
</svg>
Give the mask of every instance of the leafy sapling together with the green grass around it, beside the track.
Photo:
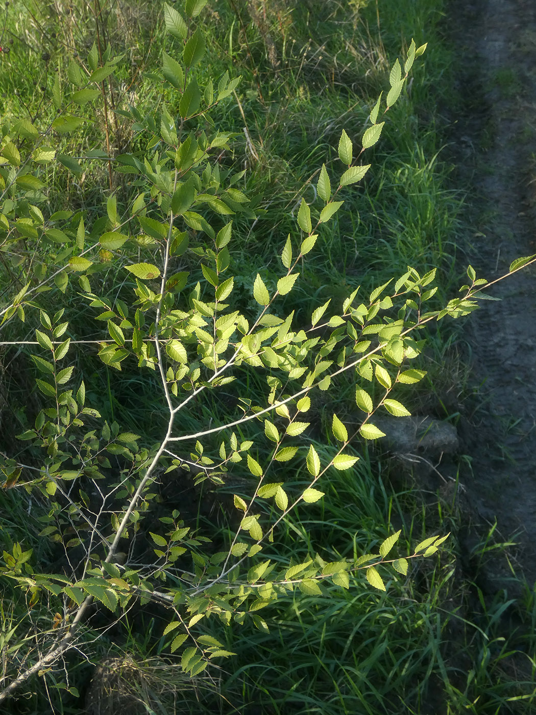
<svg viewBox="0 0 536 715">
<path fill-rule="evenodd" d="M 10 25 L 47 46 L 23 82 L 10 52 L 1 118 L 0 315 L 28 359 L 4 358 L 0 700 L 420 711 L 432 676 L 504 700 L 510 654 L 465 691 L 445 663 L 455 507 L 408 516 L 368 447 L 422 400 L 423 329 L 486 284 L 445 297 L 455 199 L 407 94 L 426 44 L 386 72 L 359 4 L 206 4 Z"/>
</svg>

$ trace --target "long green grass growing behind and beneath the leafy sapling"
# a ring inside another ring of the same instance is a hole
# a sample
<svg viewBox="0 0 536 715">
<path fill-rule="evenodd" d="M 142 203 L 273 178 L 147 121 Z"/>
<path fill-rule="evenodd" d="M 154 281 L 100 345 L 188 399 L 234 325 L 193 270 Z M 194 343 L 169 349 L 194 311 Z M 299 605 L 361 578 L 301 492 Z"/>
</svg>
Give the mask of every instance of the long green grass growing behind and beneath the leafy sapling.
<svg viewBox="0 0 536 715">
<path fill-rule="evenodd" d="M 143 118 L 162 111 L 164 103 L 178 111 L 177 93 L 170 87 L 157 91 L 154 84 L 161 71 L 162 50 L 169 49 L 163 6 L 161 2 L 119 0 L 56 0 L 53 4 L 14 0 L 4 6 L 0 45 L 9 53 L 0 54 L 2 119 L 26 116 L 39 118 L 43 124 L 53 121 L 56 68 L 85 57 L 96 35 L 102 40 L 101 54 L 108 42 L 114 54 L 123 54 L 114 75 L 103 82 L 101 108 L 95 112 L 91 104 L 79 107 L 79 116 L 88 120 L 85 129 L 58 137 L 57 151 L 62 158 L 44 167 L 42 174 L 50 190 L 41 199 L 41 207 L 46 207 L 49 215 L 69 207 L 76 217 L 84 217 L 97 240 L 107 221 L 103 195 L 108 197 L 113 191 L 118 206 L 127 207 L 137 189 L 143 190 L 131 174 L 116 172 L 115 164 L 112 167 L 106 157 L 144 149 L 153 130 Z M 232 148 L 222 148 L 219 167 L 222 171 L 231 167 L 243 170 L 236 186 L 253 197 L 249 206 L 255 217 L 248 212 L 238 214 L 233 227 L 234 283 L 242 310 L 257 307 L 252 298 L 252 256 L 272 292 L 280 272 L 281 237 L 294 230 L 301 198 L 311 203 L 317 198 L 317 167 L 325 162 L 332 173 L 338 161 L 333 147 L 337 147 L 342 129 L 355 136 L 362 134 L 371 104 L 383 88 L 390 59 L 399 52 L 401 36 L 415 36 L 417 46 L 428 41 L 430 59 L 416 66 L 409 92 L 391 110 L 392 122 L 384 129 L 383 143 L 372 149 L 374 175 L 357 190 L 342 189 L 340 197 L 351 209 L 344 217 L 342 212 L 340 217 L 335 215 L 322 245 L 315 246 L 311 260 L 299 267 L 301 287 L 284 299 L 282 310 L 285 314 L 294 310 L 297 320 L 304 322 L 329 298 L 339 305 L 358 285 L 368 295 L 393 274 L 404 273 L 408 264 L 418 265 L 423 274 L 437 267 L 440 280 L 434 307 L 444 305 L 452 294 L 457 279 L 460 199 L 448 186 L 449 168 L 441 162 L 436 127 L 440 118 L 435 106 L 438 97 L 450 92 L 448 67 L 452 59 L 437 36 L 440 10 L 440 3 L 424 0 L 384 0 L 381 4 L 359 0 L 244 4 L 229 0 L 207 9 L 207 59 L 199 71 L 199 82 L 219 77 L 226 70 L 242 74 L 234 96 L 212 113 L 217 126 L 238 135 Z M 124 116 L 129 105 L 135 105 L 140 115 L 133 125 Z M 155 145 L 154 151 L 158 150 Z M 313 207 L 317 218 L 314 211 Z M 43 250 L 57 252 L 54 245 Z M 139 255 L 133 254 L 132 260 L 142 260 L 139 256 L 147 246 L 140 245 L 137 250 Z M 194 283 L 202 278 L 195 257 L 186 255 L 181 260 L 177 268 L 192 271 Z M 12 276 L 6 262 L 4 269 L 1 288 L 8 290 Z M 98 275 L 101 297 L 112 302 L 136 287 L 132 277 L 119 279 L 114 265 L 106 265 L 105 260 Z M 96 339 L 77 290 L 69 288 L 65 294 L 54 290 L 41 298 L 40 305 L 50 314 L 65 308 L 69 337 Z M 18 323 L 16 330 L 8 323 L 4 340 L 20 342 L 20 331 L 26 326 L 24 337 L 30 340 L 33 329 L 39 327 L 39 322 L 34 322 L 36 318 L 29 315 L 26 324 L 21 327 Z M 443 351 L 449 335 L 432 330 L 430 337 L 432 348 L 420 356 L 417 367 L 429 370 L 441 403 L 450 389 L 450 373 L 442 382 Z M 4 435 L 3 449 L 7 450 L 15 443 L 14 436 L 33 424 L 44 400 L 26 375 L 28 352 L 15 353 L 18 347 L 3 349 L 4 375 L 11 380 L 9 394 L 2 395 L 11 410 L 2 410 L 4 424 L 9 420 L 11 425 L 6 426 Z M 75 365 L 77 373 L 89 375 L 88 403 L 109 423 L 116 420 L 131 433 L 141 432 L 144 446 L 150 448 L 166 423 L 162 400 L 154 400 L 157 378 L 147 370 L 142 373 L 124 367 L 121 380 L 116 380 L 113 368 L 95 367 L 91 350 L 96 353 L 94 348 L 79 352 Z M 225 415 L 226 410 L 232 413 L 236 395 L 247 394 L 253 403 L 262 404 L 264 388 L 264 377 L 247 372 L 227 393 L 211 395 L 197 413 L 188 413 L 184 432 L 197 433 L 214 415 Z M 29 393 L 33 405 L 27 399 Z M 352 381 L 342 377 L 334 396 L 322 393 L 313 401 L 310 442 L 322 463 L 332 458 L 332 414 L 337 412 L 352 421 L 353 393 Z M 417 410 L 430 401 L 422 393 L 415 393 L 412 399 L 415 404 L 408 406 Z M 244 425 L 240 436 L 256 440 L 259 433 L 262 428 L 252 421 Z M 263 449 L 259 448 L 259 461 L 266 457 Z M 35 452 L 23 452 L 20 446 L 11 450 L 14 458 L 21 454 L 29 468 L 36 468 Z M 379 547 L 386 526 L 394 531 L 403 528 L 409 548 L 410 541 L 421 541 L 430 533 L 456 530 L 458 515 L 452 501 L 441 502 L 438 511 L 437 498 L 432 495 L 434 506 L 420 508 L 410 490 L 393 493 L 382 464 L 380 455 L 365 450 L 351 471 L 330 477 L 324 500 L 311 505 L 307 516 L 301 512 L 284 516 L 277 548 L 267 545 L 265 558 L 281 567 L 282 554 L 289 551 L 294 563 L 315 553 L 326 562 L 356 558 Z M 291 489 L 298 494 L 308 484 L 307 470 L 292 468 Z M 186 494 L 192 500 L 187 511 L 192 512 L 197 527 L 212 536 L 218 547 L 227 549 L 237 525 L 236 518 L 229 516 L 232 497 L 227 509 L 222 495 L 229 491 L 246 498 L 251 485 L 247 480 L 232 483 L 228 490 L 214 493 L 204 483 L 201 498 L 199 490 L 185 490 L 178 496 L 184 499 Z M 47 511 L 44 500 L 34 497 L 32 501 L 15 489 L 2 491 L 0 498 L 2 511 L 8 515 L 0 529 L 4 550 L 13 553 L 14 544 L 22 543 L 25 550 L 34 551 L 39 563 L 54 564 L 61 551 L 40 536 Z M 273 513 L 278 512 L 267 507 L 263 516 Z M 456 540 L 446 543 L 440 561 L 415 567 L 412 578 L 400 573 L 389 578 L 387 595 L 367 590 L 362 579 L 352 575 L 348 589 L 327 585 L 322 587 L 322 597 L 300 591 L 280 596 L 269 606 L 269 633 L 252 621 L 246 621 L 239 631 L 224 628 L 214 619 L 202 621 L 206 624 L 204 635 L 217 638 L 224 649 L 237 653 L 221 668 L 207 669 L 206 679 L 196 676 L 185 684 L 182 671 L 177 674 L 177 664 L 167 651 L 169 639 L 162 637 L 167 613 L 164 616 L 156 606 L 145 616 L 135 611 L 127 614 L 124 623 L 114 628 L 106 622 L 83 628 L 81 643 L 89 659 L 105 664 L 106 673 L 114 674 L 106 676 L 108 696 L 119 692 L 119 705 L 133 711 L 172 713 L 181 697 L 191 699 L 194 705 L 189 707 L 198 711 L 222 713 L 424 715 L 434 708 L 452 714 L 529 712 L 535 676 L 534 592 L 527 590 L 522 606 L 499 593 L 491 607 L 477 593 L 480 606 L 478 617 L 473 616 L 467 612 L 467 591 L 472 586 L 460 573 Z M 23 669 L 26 659 L 35 657 L 31 648 L 36 639 L 43 638 L 43 633 L 49 642 L 54 639 L 59 621 L 51 622 L 49 611 L 59 601 L 51 593 L 49 603 L 36 605 L 28 593 L 7 579 L 2 588 L 1 653 L 3 675 L 10 677 L 14 667 Z M 510 616 L 516 608 L 519 610 Z M 505 617 L 516 622 L 508 639 Z M 147 623 L 144 635 L 132 625 L 138 618 L 147 619 L 142 621 Z M 449 646 L 452 638 L 461 654 L 458 660 Z M 34 692 L 28 691 L 26 699 L 17 701 L 14 711 L 80 711 L 89 687 L 89 668 L 69 662 L 67 673 L 67 689 L 59 674 L 51 671 L 46 679 L 37 681 Z M 162 681 L 171 682 L 172 688 L 166 692 Z M 106 707 L 116 709 L 119 705 L 109 701 Z M 106 711 L 104 704 L 101 708 Z"/>
</svg>

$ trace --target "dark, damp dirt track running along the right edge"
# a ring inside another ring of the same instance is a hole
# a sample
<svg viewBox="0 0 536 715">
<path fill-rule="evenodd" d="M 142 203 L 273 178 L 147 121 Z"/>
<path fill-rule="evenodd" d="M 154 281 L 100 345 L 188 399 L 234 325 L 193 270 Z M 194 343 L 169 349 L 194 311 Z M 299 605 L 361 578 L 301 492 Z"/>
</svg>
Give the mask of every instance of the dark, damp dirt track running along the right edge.
<svg viewBox="0 0 536 715">
<path fill-rule="evenodd" d="M 460 12 L 462 16 L 460 16 Z M 467 260 L 495 280 L 516 257 L 536 253 L 536 2 L 451 5 L 465 67 L 465 113 L 454 137 L 473 235 Z M 471 383 L 480 407 L 467 420 L 472 467 L 461 481 L 482 535 L 497 517 L 500 536 L 530 586 L 536 579 L 536 269 L 497 284 L 470 318 Z M 473 538 L 473 546 L 475 538 Z M 486 590 L 513 588 L 506 559 L 490 562 Z M 515 589 L 514 589 L 515 590 Z M 513 593 L 512 593 L 513 595 Z"/>
</svg>

